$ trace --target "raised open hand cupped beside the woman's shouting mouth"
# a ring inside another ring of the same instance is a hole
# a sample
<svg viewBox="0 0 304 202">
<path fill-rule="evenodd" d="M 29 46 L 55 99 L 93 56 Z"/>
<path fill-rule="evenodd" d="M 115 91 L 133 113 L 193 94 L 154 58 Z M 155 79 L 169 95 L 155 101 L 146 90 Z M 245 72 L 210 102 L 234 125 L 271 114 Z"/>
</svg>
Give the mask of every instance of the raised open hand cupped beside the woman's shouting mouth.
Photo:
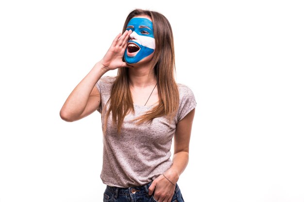
<svg viewBox="0 0 304 202">
<path fill-rule="evenodd" d="M 100 63 L 106 70 L 113 70 L 120 67 L 132 67 L 126 62 L 122 62 L 124 51 L 127 47 L 129 36 L 132 33 L 131 30 L 125 31 L 122 35 L 119 33 L 114 39 L 111 47 L 101 59 Z"/>
</svg>

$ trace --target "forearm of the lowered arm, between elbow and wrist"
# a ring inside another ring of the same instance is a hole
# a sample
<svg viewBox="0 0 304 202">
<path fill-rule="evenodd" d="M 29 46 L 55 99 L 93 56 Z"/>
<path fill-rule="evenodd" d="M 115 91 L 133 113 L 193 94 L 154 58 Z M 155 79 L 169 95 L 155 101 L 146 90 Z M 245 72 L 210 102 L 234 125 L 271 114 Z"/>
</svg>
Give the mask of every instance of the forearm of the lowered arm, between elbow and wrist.
<svg viewBox="0 0 304 202">
<path fill-rule="evenodd" d="M 174 184 L 177 183 L 179 176 L 185 171 L 189 160 L 189 153 L 187 151 L 181 151 L 173 155 L 173 164 L 168 171 L 165 172 L 165 176 L 169 178 Z"/>
</svg>

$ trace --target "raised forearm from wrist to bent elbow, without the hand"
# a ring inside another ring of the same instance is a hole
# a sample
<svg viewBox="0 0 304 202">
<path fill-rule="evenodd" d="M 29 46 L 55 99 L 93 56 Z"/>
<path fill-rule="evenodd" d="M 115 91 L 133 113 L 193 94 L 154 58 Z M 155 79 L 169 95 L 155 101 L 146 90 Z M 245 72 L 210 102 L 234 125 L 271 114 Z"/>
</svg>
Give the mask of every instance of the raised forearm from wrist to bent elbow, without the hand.
<svg viewBox="0 0 304 202">
<path fill-rule="evenodd" d="M 96 63 L 91 71 L 74 88 L 63 105 L 60 114 L 68 120 L 76 120 L 84 111 L 95 84 L 107 70 Z"/>
</svg>

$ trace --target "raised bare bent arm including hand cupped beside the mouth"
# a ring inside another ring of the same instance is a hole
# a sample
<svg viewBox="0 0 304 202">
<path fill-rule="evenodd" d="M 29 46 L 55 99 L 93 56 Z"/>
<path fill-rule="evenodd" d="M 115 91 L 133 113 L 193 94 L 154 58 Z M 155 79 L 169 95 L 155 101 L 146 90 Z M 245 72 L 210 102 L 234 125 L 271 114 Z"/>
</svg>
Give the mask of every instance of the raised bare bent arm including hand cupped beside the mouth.
<svg viewBox="0 0 304 202">
<path fill-rule="evenodd" d="M 122 62 L 122 57 L 131 33 L 132 31 L 125 31 L 122 35 L 118 34 L 102 60 L 94 65 L 92 70 L 70 93 L 60 110 L 60 117 L 63 120 L 76 121 L 99 108 L 101 97 L 95 84 L 109 70 L 130 67 L 127 63 Z"/>
</svg>

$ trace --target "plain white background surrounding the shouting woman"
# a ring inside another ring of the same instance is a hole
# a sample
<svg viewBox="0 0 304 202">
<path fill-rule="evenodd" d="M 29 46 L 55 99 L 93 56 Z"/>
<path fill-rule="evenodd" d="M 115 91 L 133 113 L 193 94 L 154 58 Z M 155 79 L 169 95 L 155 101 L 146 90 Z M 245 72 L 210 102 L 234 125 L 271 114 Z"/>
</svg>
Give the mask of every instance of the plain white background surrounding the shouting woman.
<svg viewBox="0 0 304 202">
<path fill-rule="evenodd" d="M 304 202 L 302 2 L 197 2 L 0 2 L 0 202 L 102 201 L 100 114 L 59 110 L 134 8 L 167 16 L 198 103 L 185 201 Z"/>
</svg>

